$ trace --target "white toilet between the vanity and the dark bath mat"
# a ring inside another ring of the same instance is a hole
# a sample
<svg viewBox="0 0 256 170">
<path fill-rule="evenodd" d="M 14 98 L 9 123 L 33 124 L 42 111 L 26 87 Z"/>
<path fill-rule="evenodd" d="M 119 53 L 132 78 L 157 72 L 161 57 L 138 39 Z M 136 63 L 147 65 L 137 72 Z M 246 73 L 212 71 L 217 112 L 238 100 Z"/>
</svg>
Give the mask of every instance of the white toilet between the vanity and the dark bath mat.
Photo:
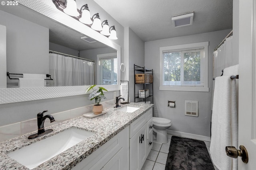
<svg viewBox="0 0 256 170">
<path fill-rule="evenodd" d="M 169 119 L 161 117 L 153 117 L 153 132 L 156 134 L 157 143 L 168 143 L 166 129 L 172 126 L 172 122 Z"/>
</svg>

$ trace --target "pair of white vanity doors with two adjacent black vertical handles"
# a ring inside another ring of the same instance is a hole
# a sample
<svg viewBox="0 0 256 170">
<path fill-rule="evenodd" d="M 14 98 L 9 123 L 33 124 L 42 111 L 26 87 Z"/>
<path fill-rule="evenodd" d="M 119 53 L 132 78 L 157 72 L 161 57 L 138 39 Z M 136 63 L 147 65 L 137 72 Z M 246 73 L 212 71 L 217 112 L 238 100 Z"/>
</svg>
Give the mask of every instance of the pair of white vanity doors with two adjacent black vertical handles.
<svg viewBox="0 0 256 170">
<path fill-rule="evenodd" d="M 140 170 L 146 160 L 147 123 L 130 139 L 130 170 Z"/>
</svg>

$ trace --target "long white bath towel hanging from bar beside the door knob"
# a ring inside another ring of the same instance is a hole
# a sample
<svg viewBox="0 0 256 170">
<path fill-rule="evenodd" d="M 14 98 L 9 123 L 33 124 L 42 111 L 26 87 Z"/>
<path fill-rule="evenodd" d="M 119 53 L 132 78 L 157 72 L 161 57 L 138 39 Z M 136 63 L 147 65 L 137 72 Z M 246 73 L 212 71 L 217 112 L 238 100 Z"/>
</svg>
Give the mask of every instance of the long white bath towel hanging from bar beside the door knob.
<svg viewBox="0 0 256 170">
<path fill-rule="evenodd" d="M 238 145 L 236 110 L 236 79 L 230 76 L 215 78 L 212 108 L 212 136 L 210 154 L 219 170 L 237 170 L 237 159 L 226 155 L 226 146 Z"/>
</svg>

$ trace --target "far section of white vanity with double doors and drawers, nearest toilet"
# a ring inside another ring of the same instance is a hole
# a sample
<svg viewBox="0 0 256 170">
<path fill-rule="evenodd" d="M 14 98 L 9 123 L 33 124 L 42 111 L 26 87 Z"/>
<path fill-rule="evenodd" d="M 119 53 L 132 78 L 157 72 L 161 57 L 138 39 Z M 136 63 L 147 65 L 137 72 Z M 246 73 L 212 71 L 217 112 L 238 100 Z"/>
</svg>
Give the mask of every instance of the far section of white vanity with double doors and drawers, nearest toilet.
<svg viewBox="0 0 256 170">
<path fill-rule="evenodd" d="M 130 170 L 140 170 L 152 149 L 152 117 L 151 108 L 130 124 Z"/>
</svg>

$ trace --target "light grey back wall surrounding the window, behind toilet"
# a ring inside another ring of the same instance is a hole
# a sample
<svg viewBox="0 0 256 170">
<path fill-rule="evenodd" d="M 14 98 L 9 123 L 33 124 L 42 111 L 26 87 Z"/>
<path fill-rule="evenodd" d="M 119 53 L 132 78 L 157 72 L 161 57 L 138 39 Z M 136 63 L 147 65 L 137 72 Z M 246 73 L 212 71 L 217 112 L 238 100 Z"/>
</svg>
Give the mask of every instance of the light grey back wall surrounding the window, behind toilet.
<svg viewBox="0 0 256 170">
<path fill-rule="evenodd" d="M 154 70 L 154 116 L 172 121 L 170 130 L 210 137 L 212 99 L 212 53 L 213 49 L 230 32 L 230 29 L 145 42 L 145 65 Z M 210 92 L 160 91 L 159 47 L 209 41 L 208 84 Z M 168 100 L 175 100 L 176 107 L 167 107 Z M 184 101 L 198 101 L 198 117 L 184 115 Z"/>
</svg>

